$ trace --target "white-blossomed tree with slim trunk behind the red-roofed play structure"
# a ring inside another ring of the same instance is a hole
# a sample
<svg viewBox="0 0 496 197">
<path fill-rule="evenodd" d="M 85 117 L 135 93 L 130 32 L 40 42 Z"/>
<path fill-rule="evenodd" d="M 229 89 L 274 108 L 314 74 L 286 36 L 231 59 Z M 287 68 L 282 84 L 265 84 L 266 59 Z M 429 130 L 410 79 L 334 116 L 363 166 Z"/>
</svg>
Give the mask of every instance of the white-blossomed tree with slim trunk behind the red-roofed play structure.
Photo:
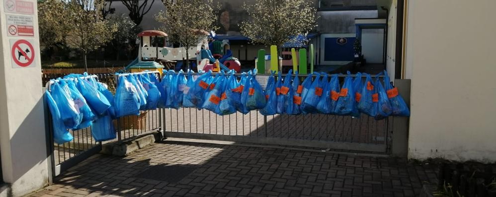
<svg viewBox="0 0 496 197">
<path fill-rule="evenodd" d="M 189 63 L 188 49 L 196 46 L 208 30 L 216 30 L 217 15 L 212 6 L 213 0 L 162 0 L 166 10 L 156 15 L 163 23 L 172 42 L 186 48 L 186 61 Z M 189 65 L 189 64 L 188 64 Z"/>
</svg>

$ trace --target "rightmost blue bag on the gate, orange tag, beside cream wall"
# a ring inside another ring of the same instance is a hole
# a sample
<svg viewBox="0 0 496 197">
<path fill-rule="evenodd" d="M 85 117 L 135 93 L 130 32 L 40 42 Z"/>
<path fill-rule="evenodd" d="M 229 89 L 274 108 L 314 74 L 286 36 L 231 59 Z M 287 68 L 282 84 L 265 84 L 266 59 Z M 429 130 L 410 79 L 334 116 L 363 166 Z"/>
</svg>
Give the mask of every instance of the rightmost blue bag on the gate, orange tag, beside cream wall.
<svg viewBox="0 0 496 197">
<path fill-rule="evenodd" d="M 410 110 L 408 105 L 403 100 L 403 97 L 398 93 L 398 88 L 391 85 L 389 75 L 386 70 L 384 70 L 384 88 L 386 88 L 386 93 L 388 94 L 391 107 L 393 108 L 393 116 L 410 116 Z"/>
</svg>

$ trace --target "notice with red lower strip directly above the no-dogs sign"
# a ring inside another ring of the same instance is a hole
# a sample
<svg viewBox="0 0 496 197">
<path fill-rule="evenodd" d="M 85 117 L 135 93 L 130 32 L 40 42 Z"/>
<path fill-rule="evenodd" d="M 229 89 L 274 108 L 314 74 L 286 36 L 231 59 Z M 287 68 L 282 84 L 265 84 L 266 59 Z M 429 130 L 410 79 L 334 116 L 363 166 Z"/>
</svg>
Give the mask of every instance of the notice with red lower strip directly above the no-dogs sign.
<svg viewBox="0 0 496 197">
<path fill-rule="evenodd" d="M 8 36 L 34 36 L 33 17 L 6 14 Z"/>
</svg>

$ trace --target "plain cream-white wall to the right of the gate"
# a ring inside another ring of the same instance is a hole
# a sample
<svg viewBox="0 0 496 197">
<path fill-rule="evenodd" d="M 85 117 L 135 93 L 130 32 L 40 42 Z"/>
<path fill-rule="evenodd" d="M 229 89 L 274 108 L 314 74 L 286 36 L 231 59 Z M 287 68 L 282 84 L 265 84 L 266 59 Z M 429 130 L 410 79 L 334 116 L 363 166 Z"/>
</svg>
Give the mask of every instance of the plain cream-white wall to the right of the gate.
<svg viewBox="0 0 496 197">
<path fill-rule="evenodd" d="M 409 158 L 496 161 L 495 0 L 409 0 Z"/>
</svg>

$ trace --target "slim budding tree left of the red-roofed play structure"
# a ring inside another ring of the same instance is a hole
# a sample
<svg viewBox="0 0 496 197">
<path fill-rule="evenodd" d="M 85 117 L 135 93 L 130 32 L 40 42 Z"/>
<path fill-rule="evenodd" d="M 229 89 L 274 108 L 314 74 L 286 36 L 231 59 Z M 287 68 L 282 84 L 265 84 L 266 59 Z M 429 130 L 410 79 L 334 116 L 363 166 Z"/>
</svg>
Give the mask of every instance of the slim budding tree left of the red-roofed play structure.
<svg viewBox="0 0 496 197">
<path fill-rule="evenodd" d="M 81 51 L 86 71 L 88 53 L 110 42 L 117 31 L 116 25 L 109 25 L 103 19 L 103 6 L 104 0 L 77 0 L 66 4 L 64 19 L 70 31 L 65 40 L 69 47 Z"/>
</svg>

